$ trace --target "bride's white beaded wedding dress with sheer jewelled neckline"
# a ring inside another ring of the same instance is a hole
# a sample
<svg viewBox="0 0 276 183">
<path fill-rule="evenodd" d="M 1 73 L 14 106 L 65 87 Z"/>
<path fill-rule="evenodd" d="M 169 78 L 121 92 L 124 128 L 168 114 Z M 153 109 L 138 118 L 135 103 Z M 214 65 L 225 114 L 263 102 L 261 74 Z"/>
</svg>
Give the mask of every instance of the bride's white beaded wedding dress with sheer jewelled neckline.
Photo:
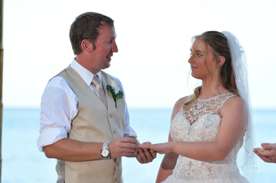
<svg viewBox="0 0 276 183">
<path fill-rule="evenodd" d="M 182 107 L 171 122 L 172 139 L 185 142 L 214 141 L 222 119 L 222 106 L 232 96 L 235 95 L 225 93 L 210 99 L 197 99 L 188 111 Z M 179 155 L 172 175 L 162 183 L 249 183 L 237 167 L 237 154 L 242 144 L 243 137 L 222 161 L 202 162 Z"/>
</svg>

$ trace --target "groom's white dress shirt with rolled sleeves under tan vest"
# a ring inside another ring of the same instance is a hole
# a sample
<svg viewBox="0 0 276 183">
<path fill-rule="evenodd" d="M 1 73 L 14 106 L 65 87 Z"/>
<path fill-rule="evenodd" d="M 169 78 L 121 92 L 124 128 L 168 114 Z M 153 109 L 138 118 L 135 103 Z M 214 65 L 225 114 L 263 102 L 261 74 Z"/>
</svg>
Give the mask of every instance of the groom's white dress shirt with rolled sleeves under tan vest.
<svg viewBox="0 0 276 183">
<path fill-rule="evenodd" d="M 91 90 L 99 97 L 94 87 L 91 85 L 94 74 L 81 66 L 75 59 L 70 65 Z M 97 73 L 101 79 L 100 72 Z M 124 92 L 120 80 L 113 77 L 117 82 L 120 90 Z M 129 125 L 129 113 L 126 105 L 125 95 L 125 130 L 124 137 L 136 137 L 136 132 Z M 37 146 L 40 152 L 43 152 L 43 147 L 51 145 L 62 138 L 67 138 L 67 134 L 71 130 L 72 119 L 78 114 L 78 98 L 75 92 L 71 89 L 68 83 L 60 76 L 53 77 L 47 84 L 41 97 L 40 107 L 40 135 L 37 140 Z"/>
</svg>

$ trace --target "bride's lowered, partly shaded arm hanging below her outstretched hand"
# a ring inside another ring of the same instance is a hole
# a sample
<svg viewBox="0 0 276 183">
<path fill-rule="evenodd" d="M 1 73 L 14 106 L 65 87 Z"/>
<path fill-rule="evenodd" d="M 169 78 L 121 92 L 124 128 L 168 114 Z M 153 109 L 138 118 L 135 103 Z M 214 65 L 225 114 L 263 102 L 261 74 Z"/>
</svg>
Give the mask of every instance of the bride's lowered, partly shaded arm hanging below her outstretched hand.
<svg viewBox="0 0 276 183">
<path fill-rule="evenodd" d="M 172 152 L 163 157 L 155 183 L 163 182 L 172 174 L 172 170 L 176 165 L 177 157 L 178 154 Z"/>
</svg>

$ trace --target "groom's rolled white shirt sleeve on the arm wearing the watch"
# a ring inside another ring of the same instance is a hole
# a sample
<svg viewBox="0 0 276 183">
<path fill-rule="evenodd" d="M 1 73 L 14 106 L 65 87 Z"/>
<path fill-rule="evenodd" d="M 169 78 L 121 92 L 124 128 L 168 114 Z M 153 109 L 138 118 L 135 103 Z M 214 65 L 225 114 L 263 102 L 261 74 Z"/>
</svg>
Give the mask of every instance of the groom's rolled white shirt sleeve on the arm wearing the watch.
<svg viewBox="0 0 276 183">
<path fill-rule="evenodd" d="M 71 121 L 78 113 L 76 96 L 68 92 L 71 88 L 64 82 L 66 81 L 63 78 L 54 77 L 47 84 L 41 97 L 40 135 L 37 140 L 40 152 L 43 152 L 44 146 L 67 138 L 71 130 Z"/>
</svg>

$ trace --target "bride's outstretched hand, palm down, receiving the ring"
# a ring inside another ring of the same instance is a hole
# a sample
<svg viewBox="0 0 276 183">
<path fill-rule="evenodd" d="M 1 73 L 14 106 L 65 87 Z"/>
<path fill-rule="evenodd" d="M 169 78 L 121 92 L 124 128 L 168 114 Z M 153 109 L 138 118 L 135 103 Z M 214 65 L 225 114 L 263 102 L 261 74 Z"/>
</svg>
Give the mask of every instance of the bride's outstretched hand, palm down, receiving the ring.
<svg viewBox="0 0 276 183">
<path fill-rule="evenodd" d="M 140 144 L 140 148 L 142 149 L 152 149 L 159 154 L 167 154 L 172 152 L 173 141 L 159 144 Z"/>
</svg>

